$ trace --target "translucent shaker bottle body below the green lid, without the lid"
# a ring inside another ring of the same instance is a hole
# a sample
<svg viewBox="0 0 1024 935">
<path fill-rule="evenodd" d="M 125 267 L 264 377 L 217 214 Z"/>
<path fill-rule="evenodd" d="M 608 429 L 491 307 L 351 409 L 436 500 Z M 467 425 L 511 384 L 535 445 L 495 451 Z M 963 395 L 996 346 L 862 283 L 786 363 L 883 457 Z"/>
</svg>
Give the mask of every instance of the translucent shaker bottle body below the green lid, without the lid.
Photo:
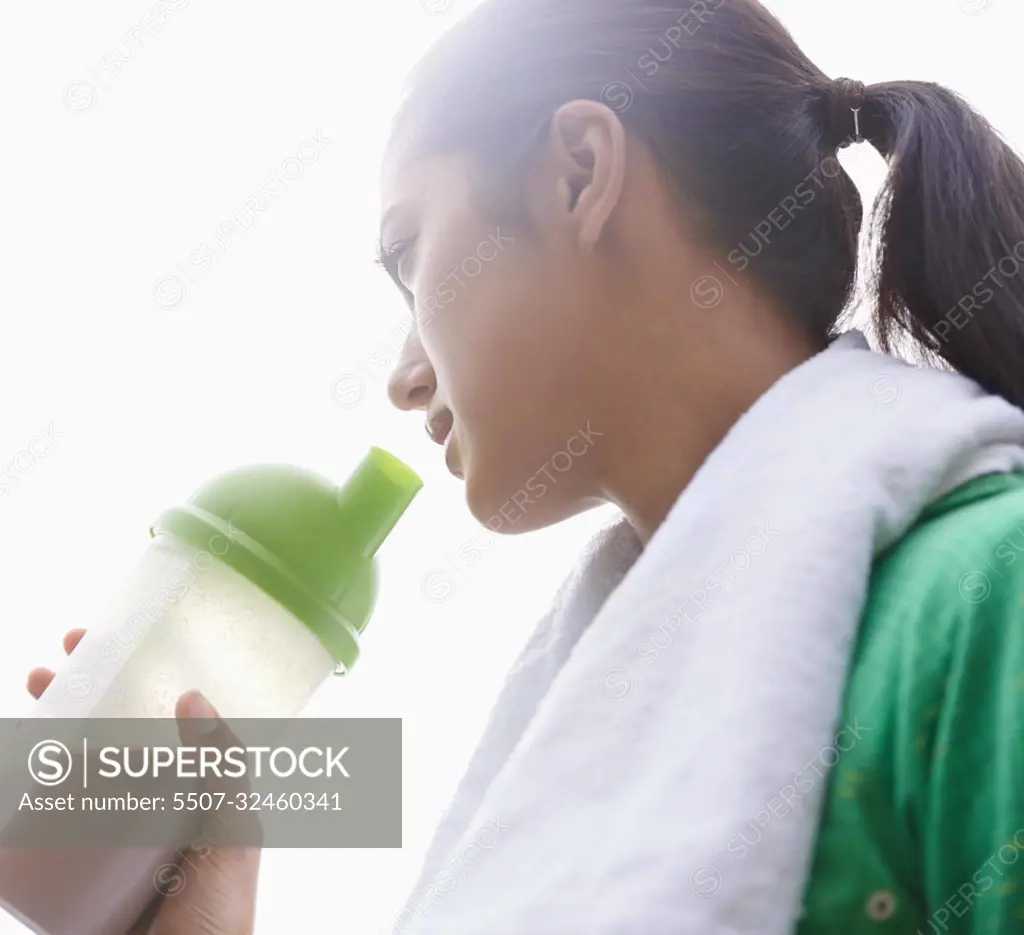
<svg viewBox="0 0 1024 935">
<path fill-rule="evenodd" d="M 167 718 L 190 689 L 229 723 L 297 715 L 335 661 L 217 549 L 216 540 L 198 550 L 170 534 L 154 539 L 31 716 L 83 719 L 83 729 L 91 718 Z M 5 816 L 4 827 L 7 818 L 18 820 Z M 175 834 L 153 847 L 0 848 L 0 903 L 38 935 L 120 935 L 184 879 L 177 864 L 196 816 L 183 812 Z"/>
</svg>

